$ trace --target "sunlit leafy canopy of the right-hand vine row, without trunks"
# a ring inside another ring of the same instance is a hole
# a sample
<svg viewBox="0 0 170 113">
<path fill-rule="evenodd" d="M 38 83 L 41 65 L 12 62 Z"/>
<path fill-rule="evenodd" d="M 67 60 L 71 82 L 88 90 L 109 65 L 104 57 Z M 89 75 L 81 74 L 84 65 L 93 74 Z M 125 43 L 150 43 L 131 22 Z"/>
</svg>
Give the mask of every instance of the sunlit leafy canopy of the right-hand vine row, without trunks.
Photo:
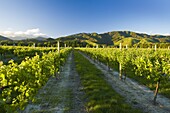
<svg viewBox="0 0 170 113">
<path fill-rule="evenodd" d="M 136 75 L 158 80 L 170 76 L 170 51 L 152 49 L 113 49 L 113 48 L 81 48 L 93 59 L 97 59 L 110 67 L 122 70 L 133 69 Z"/>
</svg>

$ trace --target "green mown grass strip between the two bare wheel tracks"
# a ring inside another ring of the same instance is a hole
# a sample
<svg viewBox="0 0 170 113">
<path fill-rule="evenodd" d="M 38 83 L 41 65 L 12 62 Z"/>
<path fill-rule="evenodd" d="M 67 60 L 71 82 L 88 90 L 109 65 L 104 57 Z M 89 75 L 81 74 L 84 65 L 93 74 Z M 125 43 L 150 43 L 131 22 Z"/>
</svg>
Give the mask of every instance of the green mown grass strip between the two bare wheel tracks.
<svg viewBox="0 0 170 113">
<path fill-rule="evenodd" d="M 116 93 L 104 80 L 101 70 L 91 64 L 77 51 L 75 54 L 76 70 L 80 75 L 86 108 L 92 113 L 141 113 L 125 103 L 122 96 Z"/>
</svg>

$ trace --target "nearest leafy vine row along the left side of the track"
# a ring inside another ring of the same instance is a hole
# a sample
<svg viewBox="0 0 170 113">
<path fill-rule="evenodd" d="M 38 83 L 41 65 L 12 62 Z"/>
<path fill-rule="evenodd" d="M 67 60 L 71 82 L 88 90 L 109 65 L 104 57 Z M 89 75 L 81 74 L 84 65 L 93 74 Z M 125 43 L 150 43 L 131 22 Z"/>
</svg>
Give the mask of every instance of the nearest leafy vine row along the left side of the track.
<svg viewBox="0 0 170 113">
<path fill-rule="evenodd" d="M 70 49 L 62 49 L 60 53 L 49 52 L 43 53 L 42 56 L 27 57 L 19 65 L 13 60 L 9 62 L 9 65 L 1 64 L 0 87 L 8 87 L 2 92 L 4 111 L 23 109 L 29 101 L 34 101 L 38 89 L 50 76 L 59 71 L 69 51 Z"/>
</svg>

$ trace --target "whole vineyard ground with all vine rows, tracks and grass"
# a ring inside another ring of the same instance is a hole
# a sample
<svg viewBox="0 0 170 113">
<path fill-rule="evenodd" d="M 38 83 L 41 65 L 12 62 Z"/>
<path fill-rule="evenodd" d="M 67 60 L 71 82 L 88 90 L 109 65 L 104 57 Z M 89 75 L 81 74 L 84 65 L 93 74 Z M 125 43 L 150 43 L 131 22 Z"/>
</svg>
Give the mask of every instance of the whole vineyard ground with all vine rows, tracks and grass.
<svg viewBox="0 0 170 113">
<path fill-rule="evenodd" d="M 170 112 L 168 49 L 4 46 L 0 60 L 0 112 Z"/>
</svg>

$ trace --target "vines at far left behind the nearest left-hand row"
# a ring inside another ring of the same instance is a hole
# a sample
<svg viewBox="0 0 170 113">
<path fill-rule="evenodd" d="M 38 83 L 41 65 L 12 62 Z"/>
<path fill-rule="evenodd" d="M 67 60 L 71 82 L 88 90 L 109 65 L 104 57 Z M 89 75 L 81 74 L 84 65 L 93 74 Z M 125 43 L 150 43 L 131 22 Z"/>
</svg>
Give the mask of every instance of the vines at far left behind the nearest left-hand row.
<svg viewBox="0 0 170 113">
<path fill-rule="evenodd" d="M 45 48 L 45 47 L 21 47 L 21 46 L 1 46 L 0 47 L 0 60 L 4 64 L 8 64 L 10 59 L 14 62 L 21 63 L 25 57 L 33 57 L 36 54 L 42 55 L 42 53 L 48 53 L 49 51 L 55 51 L 57 48 Z"/>
</svg>

